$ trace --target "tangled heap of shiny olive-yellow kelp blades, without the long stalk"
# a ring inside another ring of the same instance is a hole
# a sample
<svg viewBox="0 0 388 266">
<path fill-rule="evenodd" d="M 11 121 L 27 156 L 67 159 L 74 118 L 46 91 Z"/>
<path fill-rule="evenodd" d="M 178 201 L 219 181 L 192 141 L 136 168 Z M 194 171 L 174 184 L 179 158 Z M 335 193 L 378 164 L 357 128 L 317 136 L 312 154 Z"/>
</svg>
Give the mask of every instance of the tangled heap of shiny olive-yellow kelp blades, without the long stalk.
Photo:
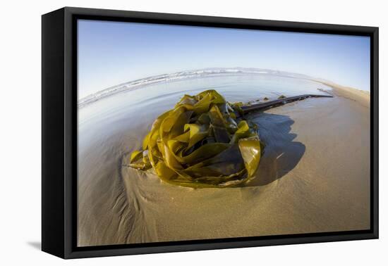
<svg viewBox="0 0 388 266">
<path fill-rule="evenodd" d="M 242 103 L 215 90 L 185 95 L 160 115 L 133 151 L 130 166 L 154 169 L 164 182 L 190 187 L 236 186 L 253 178 L 263 152 L 257 125 L 243 119 Z"/>
</svg>

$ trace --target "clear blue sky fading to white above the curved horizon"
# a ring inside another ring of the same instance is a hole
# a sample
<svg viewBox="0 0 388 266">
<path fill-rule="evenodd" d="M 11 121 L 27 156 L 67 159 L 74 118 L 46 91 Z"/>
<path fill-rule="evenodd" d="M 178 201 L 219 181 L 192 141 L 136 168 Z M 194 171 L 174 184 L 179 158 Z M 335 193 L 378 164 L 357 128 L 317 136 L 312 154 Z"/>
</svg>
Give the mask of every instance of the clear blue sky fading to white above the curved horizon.
<svg viewBox="0 0 388 266">
<path fill-rule="evenodd" d="M 370 38 L 78 20 L 78 99 L 142 77 L 267 68 L 370 90 Z"/>
</svg>

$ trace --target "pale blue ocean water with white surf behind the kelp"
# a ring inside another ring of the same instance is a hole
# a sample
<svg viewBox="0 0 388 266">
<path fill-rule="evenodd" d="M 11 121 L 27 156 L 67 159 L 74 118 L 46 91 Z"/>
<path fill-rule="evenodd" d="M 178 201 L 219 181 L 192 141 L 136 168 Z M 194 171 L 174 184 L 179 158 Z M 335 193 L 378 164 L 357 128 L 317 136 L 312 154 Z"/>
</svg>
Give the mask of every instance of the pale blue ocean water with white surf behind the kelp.
<svg viewBox="0 0 388 266">
<path fill-rule="evenodd" d="M 119 89 L 108 95 L 96 96 L 93 101 L 79 101 L 79 129 L 95 125 L 111 125 L 112 122 L 131 117 L 154 119 L 174 104 L 184 94 L 195 95 L 200 91 L 216 89 L 226 101 L 248 102 L 277 99 L 280 95 L 325 94 L 318 89 L 331 90 L 324 84 L 300 77 L 287 77 L 269 73 L 226 74 L 184 79 L 164 79 L 137 87 Z M 143 120 L 142 122 L 148 122 Z"/>
</svg>

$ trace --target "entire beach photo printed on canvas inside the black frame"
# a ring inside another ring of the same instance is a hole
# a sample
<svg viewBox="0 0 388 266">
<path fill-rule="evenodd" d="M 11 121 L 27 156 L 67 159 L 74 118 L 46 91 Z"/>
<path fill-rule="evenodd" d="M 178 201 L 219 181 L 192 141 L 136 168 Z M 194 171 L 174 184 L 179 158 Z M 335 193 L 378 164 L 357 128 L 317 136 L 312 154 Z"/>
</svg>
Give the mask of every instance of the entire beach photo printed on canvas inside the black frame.
<svg viewBox="0 0 388 266">
<path fill-rule="evenodd" d="M 77 246 L 370 229 L 370 37 L 77 22 Z"/>
</svg>

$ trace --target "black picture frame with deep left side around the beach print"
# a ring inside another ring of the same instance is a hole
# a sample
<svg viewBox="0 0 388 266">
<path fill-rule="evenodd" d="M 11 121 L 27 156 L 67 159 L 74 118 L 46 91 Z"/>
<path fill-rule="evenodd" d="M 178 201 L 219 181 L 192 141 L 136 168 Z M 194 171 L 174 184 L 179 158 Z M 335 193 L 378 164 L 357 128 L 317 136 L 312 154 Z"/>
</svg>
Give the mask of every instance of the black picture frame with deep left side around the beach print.
<svg viewBox="0 0 388 266">
<path fill-rule="evenodd" d="M 77 19 L 370 37 L 371 228 L 112 246 L 76 246 Z M 378 238 L 378 27 L 65 7 L 42 15 L 42 251 L 61 258 L 198 251 Z"/>
</svg>

